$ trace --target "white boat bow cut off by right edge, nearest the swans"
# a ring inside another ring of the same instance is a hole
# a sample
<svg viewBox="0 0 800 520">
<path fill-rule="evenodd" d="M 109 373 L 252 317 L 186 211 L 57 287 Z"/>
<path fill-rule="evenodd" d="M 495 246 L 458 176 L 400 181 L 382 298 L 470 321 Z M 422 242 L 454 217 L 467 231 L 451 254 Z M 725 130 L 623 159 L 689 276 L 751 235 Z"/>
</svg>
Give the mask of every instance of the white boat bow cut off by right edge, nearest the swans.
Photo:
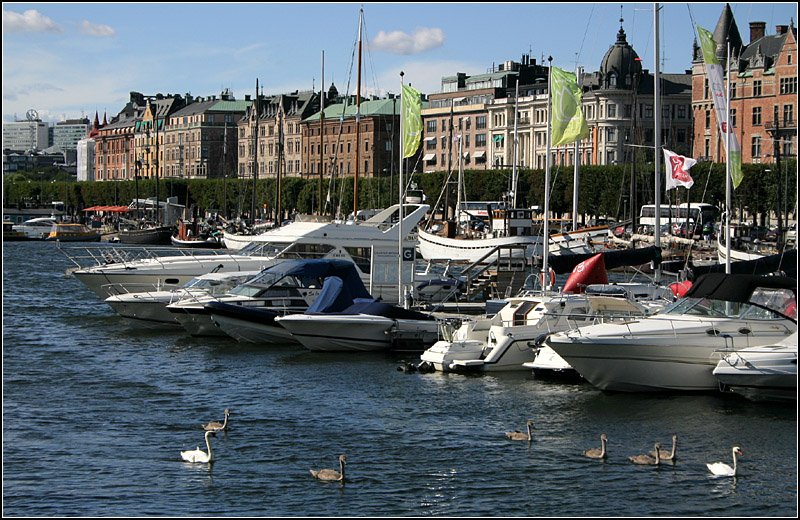
<svg viewBox="0 0 800 520">
<path fill-rule="evenodd" d="M 797 400 L 797 332 L 774 345 L 726 354 L 713 371 L 722 390 L 755 401 Z"/>
</svg>

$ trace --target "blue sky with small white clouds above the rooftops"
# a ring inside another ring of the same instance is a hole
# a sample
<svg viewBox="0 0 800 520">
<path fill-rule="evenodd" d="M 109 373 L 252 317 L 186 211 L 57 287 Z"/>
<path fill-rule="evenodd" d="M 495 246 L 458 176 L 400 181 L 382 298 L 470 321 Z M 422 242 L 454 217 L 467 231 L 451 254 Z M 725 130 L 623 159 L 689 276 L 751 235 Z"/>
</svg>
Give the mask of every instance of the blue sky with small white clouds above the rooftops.
<svg viewBox="0 0 800 520">
<path fill-rule="evenodd" d="M 661 71 L 691 66 L 693 23 L 713 31 L 724 3 L 662 3 Z M 364 8 L 362 94 L 425 93 L 442 76 L 486 72 L 530 54 L 596 71 L 616 41 L 654 68 L 653 3 L 3 3 L 3 121 L 35 109 L 46 121 L 119 112 L 130 91 L 218 95 L 356 91 L 358 13 Z M 731 3 L 749 23 L 797 23 L 795 3 Z M 545 62 L 546 63 L 546 62 Z M 349 82 L 349 89 L 348 89 Z"/>
</svg>

